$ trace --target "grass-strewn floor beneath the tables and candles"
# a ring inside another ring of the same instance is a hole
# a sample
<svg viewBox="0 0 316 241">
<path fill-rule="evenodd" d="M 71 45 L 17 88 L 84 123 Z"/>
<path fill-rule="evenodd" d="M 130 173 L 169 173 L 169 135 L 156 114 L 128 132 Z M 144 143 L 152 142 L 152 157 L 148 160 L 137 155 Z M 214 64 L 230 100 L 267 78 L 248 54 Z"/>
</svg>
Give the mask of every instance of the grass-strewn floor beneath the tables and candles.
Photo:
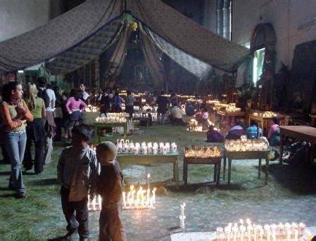
<svg viewBox="0 0 316 241">
<path fill-rule="evenodd" d="M 116 142 L 117 138 L 122 136 L 115 134 L 111 140 Z M 134 142 L 175 142 L 180 152 L 185 145 L 206 144 L 205 133 L 189 133 L 184 126 L 171 125 L 142 128 L 141 135 L 129 136 L 129 139 Z M 58 193 L 60 187 L 56 182 L 56 164 L 63 145 L 65 143 L 56 143 L 53 161 L 45 165 L 42 174 L 35 175 L 33 171 L 23 174 L 27 187 L 24 199 L 15 199 L 13 191 L 7 189 L 10 166 L 0 165 L 0 240 L 46 240 L 65 234 Z M 181 181 L 182 166 L 180 158 Z M 284 164 L 281 167 L 272 162 L 268 185 L 264 185 L 264 178 L 257 179 L 257 166 L 255 160 L 233 162 L 232 184 L 221 181 L 219 187 L 212 182 L 213 167 L 190 166 L 190 185 L 184 188 L 182 184 L 180 190 L 170 181 L 171 164 L 124 167 L 127 185 L 145 183 L 146 174 L 151 173 L 152 185 L 163 185 L 169 190 L 168 196 L 158 196 L 157 209 L 149 216 L 148 211 L 123 211 L 127 237 L 129 240 L 169 240 L 173 232 L 170 227 L 179 224 L 177 213 L 181 202 L 187 202 L 187 211 L 192 211 L 187 214 L 188 231 L 213 231 L 217 225 L 224 226 L 245 216 L 266 222 L 291 219 L 288 221 L 305 221 L 308 226 L 316 226 L 314 209 L 304 209 L 316 205 L 315 166 Z M 97 240 L 98 215 L 93 213 L 90 216 L 91 240 Z M 157 225 L 153 225 L 155 222 Z"/>
</svg>

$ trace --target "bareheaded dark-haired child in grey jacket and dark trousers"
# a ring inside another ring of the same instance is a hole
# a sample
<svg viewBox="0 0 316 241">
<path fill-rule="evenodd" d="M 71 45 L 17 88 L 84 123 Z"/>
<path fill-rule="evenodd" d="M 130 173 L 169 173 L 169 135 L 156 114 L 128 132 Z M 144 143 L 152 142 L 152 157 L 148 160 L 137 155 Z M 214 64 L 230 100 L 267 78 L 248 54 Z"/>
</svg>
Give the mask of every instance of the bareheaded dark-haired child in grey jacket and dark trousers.
<svg viewBox="0 0 316 241">
<path fill-rule="evenodd" d="M 89 240 L 88 192 L 94 195 L 99 166 L 96 152 L 89 148 L 92 130 L 87 124 L 72 129 L 72 146 L 61 152 L 57 166 L 57 178 L 61 183 L 61 207 L 68 223 L 70 240 L 78 229 L 81 240 Z"/>
</svg>

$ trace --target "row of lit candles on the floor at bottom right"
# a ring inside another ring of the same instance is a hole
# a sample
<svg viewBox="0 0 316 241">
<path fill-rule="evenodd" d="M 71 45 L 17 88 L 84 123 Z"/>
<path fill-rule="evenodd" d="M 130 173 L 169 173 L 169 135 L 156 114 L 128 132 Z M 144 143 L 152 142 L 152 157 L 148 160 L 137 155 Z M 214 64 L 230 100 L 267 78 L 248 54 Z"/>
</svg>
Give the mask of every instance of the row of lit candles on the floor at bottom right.
<svg viewBox="0 0 316 241">
<path fill-rule="evenodd" d="M 244 226 L 244 221 L 241 219 L 240 225 L 237 223 L 229 223 L 225 228 L 217 228 L 217 240 L 248 240 L 248 241 L 263 241 L 263 238 L 267 241 L 276 241 L 277 238 L 286 239 L 286 241 L 298 241 L 299 237 L 302 237 L 305 231 L 304 223 L 279 223 L 277 224 L 265 224 L 264 226 L 255 225 L 251 223 L 249 219 L 246 220 L 247 225 Z"/>
</svg>

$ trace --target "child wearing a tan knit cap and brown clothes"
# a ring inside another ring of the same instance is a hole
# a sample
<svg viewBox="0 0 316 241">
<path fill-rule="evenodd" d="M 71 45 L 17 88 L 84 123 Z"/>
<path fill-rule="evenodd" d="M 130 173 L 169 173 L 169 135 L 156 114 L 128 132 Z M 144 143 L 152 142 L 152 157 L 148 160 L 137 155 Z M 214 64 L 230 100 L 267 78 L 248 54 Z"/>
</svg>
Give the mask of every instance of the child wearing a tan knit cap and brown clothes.
<svg viewBox="0 0 316 241">
<path fill-rule="evenodd" d="M 123 174 L 115 160 L 118 150 L 110 141 L 96 147 L 96 157 L 101 164 L 97 192 L 102 197 L 99 219 L 99 240 L 126 240 L 121 220 Z"/>
</svg>

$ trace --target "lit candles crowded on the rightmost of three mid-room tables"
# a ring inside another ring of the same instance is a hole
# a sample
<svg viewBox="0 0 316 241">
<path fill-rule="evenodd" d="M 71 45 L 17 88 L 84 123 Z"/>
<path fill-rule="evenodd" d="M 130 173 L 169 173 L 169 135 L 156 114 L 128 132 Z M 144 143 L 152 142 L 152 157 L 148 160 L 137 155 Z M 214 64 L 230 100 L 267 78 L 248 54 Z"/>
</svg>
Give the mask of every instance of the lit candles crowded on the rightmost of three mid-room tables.
<svg viewBox="0 0 316 241">
<path fill-rule="evenodd" d="M 230 152 L 267 150 L 269 143 L 263 139 L 226 140 L 225 149 Z"/>
</svg>

